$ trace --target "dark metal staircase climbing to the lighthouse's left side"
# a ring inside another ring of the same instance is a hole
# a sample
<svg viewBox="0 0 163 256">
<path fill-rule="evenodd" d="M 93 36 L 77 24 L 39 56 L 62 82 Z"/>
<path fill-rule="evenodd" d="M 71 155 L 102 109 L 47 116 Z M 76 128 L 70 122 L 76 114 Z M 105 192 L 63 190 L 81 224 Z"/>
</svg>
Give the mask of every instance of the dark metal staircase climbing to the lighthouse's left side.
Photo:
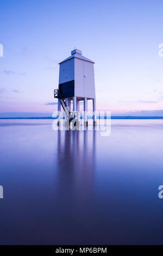
<svg viewBox="0 0 163 256">
<path fill-rule="evenodd" d="M 62 106 L 62 108 L 64 109 L 64 112 L 65 112 L 65 114 L 66 114 L 66 120 L 69 120 L 69 124 L 70 124 L 70 122 L 71 122 L 73 119 L 78 118 L 75 113 L 74 113 L 74 115 L 73 115 L 73 112 L 70 112 L 70 111 L 69 111 L 69 109 L 68 109 L 68 107 L 67 107 L 67 105 L 66 105 L 65 100 L 62 99 L 62 96 L 61 96 L 61 94 L 60 94 L 60 92 L 59 92 L 59 89 L 55 89 L 55 90 L 54 90 L 54 98 L 59 99 L 59 101 L 60 101 L 60 103 L 61 103 L 61 106 Z"/>
</svg>

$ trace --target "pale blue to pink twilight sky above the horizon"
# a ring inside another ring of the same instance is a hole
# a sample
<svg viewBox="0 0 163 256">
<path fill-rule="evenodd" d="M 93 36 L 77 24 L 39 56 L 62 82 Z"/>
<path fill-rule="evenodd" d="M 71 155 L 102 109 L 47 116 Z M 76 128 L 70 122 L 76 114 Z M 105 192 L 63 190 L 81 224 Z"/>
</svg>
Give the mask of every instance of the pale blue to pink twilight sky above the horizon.
<svg viewBox="0 0 163 256">
<path fill-rule="evenodd" d="M 161 0 L 1 0 L 0 117 L 52 114 L 58 63 L 74 47 L 95 62 L 98 111 L 161 113 L 162 7 Z"/>
</svg>

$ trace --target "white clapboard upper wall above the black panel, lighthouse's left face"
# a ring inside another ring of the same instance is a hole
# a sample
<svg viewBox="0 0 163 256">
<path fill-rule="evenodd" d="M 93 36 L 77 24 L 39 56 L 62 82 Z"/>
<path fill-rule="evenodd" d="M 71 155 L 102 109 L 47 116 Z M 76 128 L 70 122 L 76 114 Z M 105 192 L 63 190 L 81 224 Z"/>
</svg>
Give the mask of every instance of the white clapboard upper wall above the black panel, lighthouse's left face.
<svg viewBox="0 0 163 256">
<path fill-rule="evenodd" d="M 59 84 L 74 80 L 74 58 L 60 64 Z"/>
</svg>

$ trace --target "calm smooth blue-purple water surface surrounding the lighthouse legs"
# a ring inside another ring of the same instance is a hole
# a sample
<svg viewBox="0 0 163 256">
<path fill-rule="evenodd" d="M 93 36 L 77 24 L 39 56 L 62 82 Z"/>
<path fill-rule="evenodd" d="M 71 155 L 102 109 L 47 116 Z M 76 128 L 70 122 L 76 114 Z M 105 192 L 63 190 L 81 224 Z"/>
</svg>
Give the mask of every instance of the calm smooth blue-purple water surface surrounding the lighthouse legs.
<svg viewBox="0 0 163 256">
<path fill-rule="evenodd" d="M 1 245 L 163 244 L 163 120 L 0 121 Z"/>
</svg>

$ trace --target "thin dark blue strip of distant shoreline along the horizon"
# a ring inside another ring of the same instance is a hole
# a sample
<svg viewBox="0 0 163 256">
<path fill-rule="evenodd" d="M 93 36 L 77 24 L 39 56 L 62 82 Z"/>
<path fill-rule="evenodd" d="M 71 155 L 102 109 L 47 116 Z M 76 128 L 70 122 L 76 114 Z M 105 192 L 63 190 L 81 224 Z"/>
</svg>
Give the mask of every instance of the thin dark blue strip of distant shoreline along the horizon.
<svg viewBox="0 0 163 256">
<path fill-rule="evenodd" d="M 57 119 L 52 117 L 2 117 L 0 119 Z M 89 117 L 92 119 L 92 117 Z M 97 117 L 97 119 L 99 119 Z M 101 117 L 101 119 L 106 119 L 106 117 Z M 109 119 L 109 118 L 108 118 Z M 131 117 L 131 116 L 115 116 L 111 117 L 111 119 L 163 119 L 163 117 Z"/>
</svg>

